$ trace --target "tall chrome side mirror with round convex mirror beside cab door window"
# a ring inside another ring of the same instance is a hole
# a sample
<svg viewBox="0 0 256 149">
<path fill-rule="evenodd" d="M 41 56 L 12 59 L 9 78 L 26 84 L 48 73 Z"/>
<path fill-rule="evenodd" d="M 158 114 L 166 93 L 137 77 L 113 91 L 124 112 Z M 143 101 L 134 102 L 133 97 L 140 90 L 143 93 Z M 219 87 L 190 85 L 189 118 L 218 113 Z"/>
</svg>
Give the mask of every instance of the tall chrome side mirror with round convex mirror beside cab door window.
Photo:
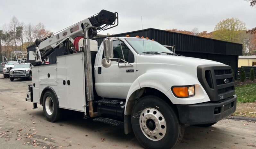
<svg viewBox="0 0 256 149">
<path fill-rule="evenodd" d="M 111 59 L 114 57 L 113 40 L 111 38 L 105 38 L 103 40 L 103 48 L 104 48 L 104 59 L 101 60 L 101 64 L 103 67 L 110 67 Z"/>
</svg>

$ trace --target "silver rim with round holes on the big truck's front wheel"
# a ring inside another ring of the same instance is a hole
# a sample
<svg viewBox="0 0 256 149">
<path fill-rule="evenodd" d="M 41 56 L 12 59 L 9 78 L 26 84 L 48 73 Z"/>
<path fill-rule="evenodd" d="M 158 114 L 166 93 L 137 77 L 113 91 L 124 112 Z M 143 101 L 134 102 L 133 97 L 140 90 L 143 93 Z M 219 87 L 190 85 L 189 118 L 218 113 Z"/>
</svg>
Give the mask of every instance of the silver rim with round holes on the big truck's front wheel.
<svg viewBox="0 0 256 149">
<path fill-rule="evenodd" d="M 140 127 L 143 134 L 150 140 L 159 141 L 166 134 L 166 121 L 155 108 L 146 108 L 140 115 Z"/>
</svg>

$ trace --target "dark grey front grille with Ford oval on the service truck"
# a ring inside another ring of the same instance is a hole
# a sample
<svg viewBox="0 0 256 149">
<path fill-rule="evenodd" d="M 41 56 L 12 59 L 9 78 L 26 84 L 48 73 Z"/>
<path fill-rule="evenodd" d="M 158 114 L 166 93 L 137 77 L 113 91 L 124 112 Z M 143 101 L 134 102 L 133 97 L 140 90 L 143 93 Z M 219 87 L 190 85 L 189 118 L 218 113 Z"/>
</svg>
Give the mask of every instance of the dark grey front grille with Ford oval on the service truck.
<svg viewBox="0 0 256 149">
<path fill-rule="evenodd" d="M 235 95 L 234 78 L 230 66 L 200 65 L 197 77 L 211 101 Z"/>
</svg>

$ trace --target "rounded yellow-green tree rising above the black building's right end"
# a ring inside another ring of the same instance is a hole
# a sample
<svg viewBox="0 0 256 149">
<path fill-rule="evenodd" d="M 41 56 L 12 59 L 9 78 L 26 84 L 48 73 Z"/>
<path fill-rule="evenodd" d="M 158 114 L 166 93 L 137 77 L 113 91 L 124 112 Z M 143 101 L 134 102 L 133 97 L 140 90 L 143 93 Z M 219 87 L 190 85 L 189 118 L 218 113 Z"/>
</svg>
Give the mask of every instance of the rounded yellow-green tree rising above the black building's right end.
<svg viewBox="0 0 256 149">
<path fill-rule="evenodd" d="M 213 36 L 214 39 L 239 43 L 239 35 L 245 30 L 244 22 L 235 18 L 227 18 L 216 24 Z"/>
</svg>

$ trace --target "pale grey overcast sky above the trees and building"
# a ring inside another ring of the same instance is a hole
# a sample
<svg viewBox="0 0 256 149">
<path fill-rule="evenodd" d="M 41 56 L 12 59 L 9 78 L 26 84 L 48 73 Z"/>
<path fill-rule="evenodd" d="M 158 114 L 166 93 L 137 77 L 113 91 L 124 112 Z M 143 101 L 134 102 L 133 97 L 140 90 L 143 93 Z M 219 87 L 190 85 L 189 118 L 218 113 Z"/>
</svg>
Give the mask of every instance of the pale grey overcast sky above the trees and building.
<svg viewBox="0 0 256 149">
<path fill-rule="evenodd" d="M 0 28 L 13 16 L 21 22 L 43 23 L 57 32 L 105 9 L 119 13 L 119 25 L 99 34 L 118 34 L 143 28 L 213 31 L 226 18 L 256 26 L 256 8 L 244 0 L 0 0 Z"/>
</svg>

